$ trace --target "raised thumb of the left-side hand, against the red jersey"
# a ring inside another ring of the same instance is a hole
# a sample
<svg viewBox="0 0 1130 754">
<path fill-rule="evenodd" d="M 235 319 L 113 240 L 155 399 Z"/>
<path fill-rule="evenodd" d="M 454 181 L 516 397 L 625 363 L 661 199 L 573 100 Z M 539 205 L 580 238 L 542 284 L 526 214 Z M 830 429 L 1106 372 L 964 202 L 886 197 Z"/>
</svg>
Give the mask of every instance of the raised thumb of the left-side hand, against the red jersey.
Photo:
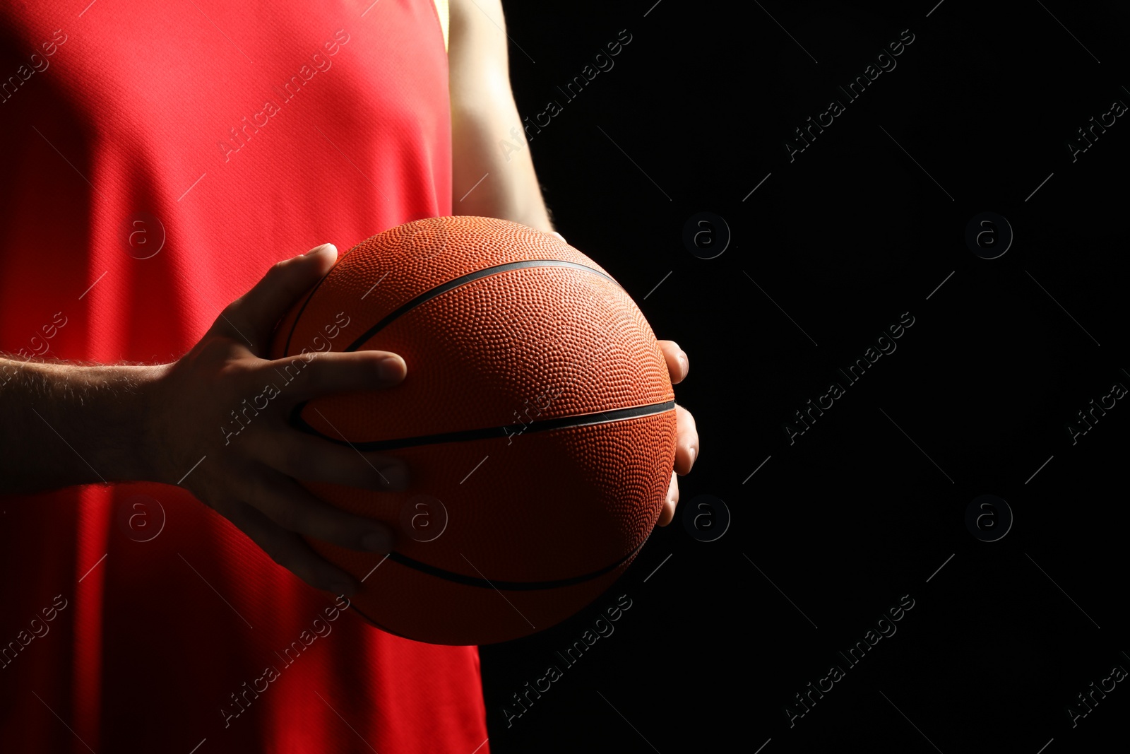
<svg viewBox="0 0 1130 754">
<path fill-rule="evenodd" d="M 266 353 L 276 322 L 337 260 L 337 246 L 323 243 L 305 254 L 276 262 L 251 291 L 224 310 L 223 318 L 237 329 L 238 339 L 249 340 L 252 350 Z"/>
</svg>

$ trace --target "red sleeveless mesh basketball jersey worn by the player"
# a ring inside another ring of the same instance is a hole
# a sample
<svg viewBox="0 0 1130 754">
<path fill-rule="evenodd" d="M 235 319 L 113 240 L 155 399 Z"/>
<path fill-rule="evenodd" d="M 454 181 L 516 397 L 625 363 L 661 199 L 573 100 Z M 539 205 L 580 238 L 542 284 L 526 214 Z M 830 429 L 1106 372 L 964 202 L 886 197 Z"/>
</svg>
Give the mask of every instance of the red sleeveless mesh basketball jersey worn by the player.
<svg viewBox="0 0 1130 754">
<path fill-rule="evenodd" d="M 450 215 L 443 24 L 7 0 L 0 352 L 168 362 L 273 262 Z M 476 648 L 372 627 L 180 487 L 0 510 L 5 751 L 488 751 Z"/>
</svg>

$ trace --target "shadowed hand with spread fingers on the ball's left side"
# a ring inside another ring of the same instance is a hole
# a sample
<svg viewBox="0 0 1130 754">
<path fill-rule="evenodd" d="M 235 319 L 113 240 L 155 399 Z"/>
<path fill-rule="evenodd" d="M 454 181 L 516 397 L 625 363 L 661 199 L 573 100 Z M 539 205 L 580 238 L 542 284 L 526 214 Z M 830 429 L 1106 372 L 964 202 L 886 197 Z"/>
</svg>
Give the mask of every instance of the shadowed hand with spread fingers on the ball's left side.
<svg viewBox="0 0 1130 754">
<path fill-rule="evenodd" d="M 351 448 L 292 428 L 286 417 L 304 400 L 394 385 L 407 366 L 381 350 L 266 358 L 276 322 L 330 270 L 337 254 L 324 244 L 278 262 L 225 309 L 188 355 L 163 367 L 146 431 L 149 447 L 159 448 L 153 480 L 192 492 L 306 583 L 351 595 L 359 588 L 356 579 L 314 553 L 303 536 L 386 553 L 393 531 L 322 502 L 296 479 L 403 489 L 407 469 L 375 453 L 364 454 L 366 463 Z"/>
</svg>

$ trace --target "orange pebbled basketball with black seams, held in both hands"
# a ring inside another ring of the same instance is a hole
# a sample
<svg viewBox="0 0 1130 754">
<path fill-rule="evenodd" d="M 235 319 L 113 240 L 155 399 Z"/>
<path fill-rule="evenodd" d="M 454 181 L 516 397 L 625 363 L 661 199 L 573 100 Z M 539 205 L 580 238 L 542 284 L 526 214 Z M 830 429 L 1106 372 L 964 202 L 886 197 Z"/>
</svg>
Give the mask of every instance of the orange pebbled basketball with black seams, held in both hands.
<svg viewBox="0 0 1130 754">
<path fill-rule="evenodd" d="M 364 579 L 358 613 L 417 641 L 488 644 L 563 621 L 624 572 L 667 495 L 675 393 L 651 327 L 599 265 L 507 220 L 390 228 L 295 305 L 271 357 L 358 349 L 403 356 L 403 382 L 292 415 L 408 467 L 405 492 L 304 483 L 398 532 L 388 556 L 311 540 Z"/>
</svg>

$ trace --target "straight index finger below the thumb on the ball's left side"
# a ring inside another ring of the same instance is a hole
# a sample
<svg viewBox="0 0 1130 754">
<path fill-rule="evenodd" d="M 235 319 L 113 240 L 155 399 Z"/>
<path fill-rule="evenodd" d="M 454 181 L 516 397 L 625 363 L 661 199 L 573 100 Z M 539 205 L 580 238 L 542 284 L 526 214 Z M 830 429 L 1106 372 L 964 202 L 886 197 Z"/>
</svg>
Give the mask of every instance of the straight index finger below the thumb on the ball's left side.
<svg viewBox="0 0 1130 754">
<path fill-rule="evenodd" d="M 313 356 L 287 356 L 262 365 L 262 374 L 272 384 L 284 380 L 285 405 L 320 396 L 354 390 L 376 390 L 398 384 L 408 373 L 408 365 L 397 354 L 386 350 L 349 353 L 315 352 Z"/>
</svg>

